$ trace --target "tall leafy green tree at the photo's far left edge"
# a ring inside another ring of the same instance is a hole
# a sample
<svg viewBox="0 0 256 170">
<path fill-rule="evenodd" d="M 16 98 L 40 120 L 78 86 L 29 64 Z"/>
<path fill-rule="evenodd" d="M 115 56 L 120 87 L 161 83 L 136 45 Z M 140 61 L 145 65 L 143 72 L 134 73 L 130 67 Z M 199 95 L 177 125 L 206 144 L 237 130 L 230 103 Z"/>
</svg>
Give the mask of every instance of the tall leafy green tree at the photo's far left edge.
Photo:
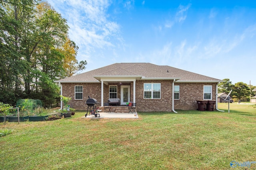
<svg viewBox="0 0 256 170">
<path fill-rule="evenodd" d="M 36 0 L 0 1 L 0 43 L 1 43 L 1 95 L 18 98 L 22 95 L 24 79 L 29 63 L 26 61 L 26 37 L 30 34 L 30 18 L 33 18 Z M 8 98 L 2 99 L 2 101 Z M 10 102 L 13 104 L 13 102 Z"/>
</svg>

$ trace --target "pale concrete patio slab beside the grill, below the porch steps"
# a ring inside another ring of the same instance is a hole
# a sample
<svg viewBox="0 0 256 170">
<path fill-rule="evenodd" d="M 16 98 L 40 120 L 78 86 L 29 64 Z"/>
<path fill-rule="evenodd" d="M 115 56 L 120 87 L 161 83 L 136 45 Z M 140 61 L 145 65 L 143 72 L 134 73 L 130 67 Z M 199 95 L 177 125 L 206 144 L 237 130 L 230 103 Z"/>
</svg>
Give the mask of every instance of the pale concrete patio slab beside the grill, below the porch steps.
<svg viewBox="0 0 256 170">
<path fill-rule="evenodd" d="M 100 114 L 100 117 L 95 117 L 95 115 L 87 115 L 86 117 L 82 118 L 90 118 L 90 119 L 98 119 L 98 118 L 132 118 L 132 119 L 138 119 L 138 114 L 136 113 L 110 113 L 110 112 L 98 112 Z"/>
</svg>

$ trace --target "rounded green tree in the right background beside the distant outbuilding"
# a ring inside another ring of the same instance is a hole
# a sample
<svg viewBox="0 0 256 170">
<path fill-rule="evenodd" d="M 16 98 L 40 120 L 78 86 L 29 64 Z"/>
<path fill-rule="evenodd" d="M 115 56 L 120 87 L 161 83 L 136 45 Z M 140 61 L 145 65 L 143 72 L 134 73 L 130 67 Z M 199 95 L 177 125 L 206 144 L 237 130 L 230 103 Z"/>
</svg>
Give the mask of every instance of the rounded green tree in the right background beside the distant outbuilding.
<svg viewBox="0 0 256 170">
<path fill-rule="evenodd" d="M 234 84 L 232 94 L 233 97 L 236 97 L 241 101 L 241 98 L 248 97 L 250 95 L 250 89 L 247 84 L 238 82 Z"/>
</svg>

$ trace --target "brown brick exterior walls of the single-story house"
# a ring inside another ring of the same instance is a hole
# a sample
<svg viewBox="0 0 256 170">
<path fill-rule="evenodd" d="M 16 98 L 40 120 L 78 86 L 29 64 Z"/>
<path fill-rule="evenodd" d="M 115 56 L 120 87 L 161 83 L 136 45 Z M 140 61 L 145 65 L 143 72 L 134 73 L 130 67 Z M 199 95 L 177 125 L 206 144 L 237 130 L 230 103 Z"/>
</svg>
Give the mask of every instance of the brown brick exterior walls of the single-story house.
<svg viewBox="0 0 256 170">
<path fill-rule="evenodd" d="M 161 99 L 144 99 L 144 83 L 161 83 Z M 108 86 L 117 85 L 118 98 L 121 98 L 120 84 L 104 84 L 104 103 L 108 102 Z M 133 82 L 122 85 L 130 85 L 130 99 L 133 102 Z M 212 85 L 212 100 L 216 100 L 216 83 L 175 83 L 180 85 L 180 100 L 174 100 L 174 109 L 197 109 L 196 100 L 203 100 L 204 85 Z M 83 99 L 74 99 L 75 86 L 83 86 Z M 88 96 L 101 102 L 101 83 L 62 83 L 62 95 L 71 97 L 70 106 L 77 110 L 87 110 L 86 100 Z M 100 105 L 98 105 L 100 106 Z M 172 111 L 172 81 L 136 81 L 136 110 L 137 111 Z"/>
</svg>

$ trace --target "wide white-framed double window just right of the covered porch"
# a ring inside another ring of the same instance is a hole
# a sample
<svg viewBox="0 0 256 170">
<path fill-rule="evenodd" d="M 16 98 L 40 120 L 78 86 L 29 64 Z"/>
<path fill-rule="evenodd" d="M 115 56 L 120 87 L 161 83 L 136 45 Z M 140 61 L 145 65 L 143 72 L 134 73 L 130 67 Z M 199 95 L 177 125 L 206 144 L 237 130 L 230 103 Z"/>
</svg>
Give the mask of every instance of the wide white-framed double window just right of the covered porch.
<svg viewBox="0 0 256 170">
<path fill-rule="evenodd" d="M 161 83 L 144 83 L 144 99 L 160 99 Z"/>
</svg>

